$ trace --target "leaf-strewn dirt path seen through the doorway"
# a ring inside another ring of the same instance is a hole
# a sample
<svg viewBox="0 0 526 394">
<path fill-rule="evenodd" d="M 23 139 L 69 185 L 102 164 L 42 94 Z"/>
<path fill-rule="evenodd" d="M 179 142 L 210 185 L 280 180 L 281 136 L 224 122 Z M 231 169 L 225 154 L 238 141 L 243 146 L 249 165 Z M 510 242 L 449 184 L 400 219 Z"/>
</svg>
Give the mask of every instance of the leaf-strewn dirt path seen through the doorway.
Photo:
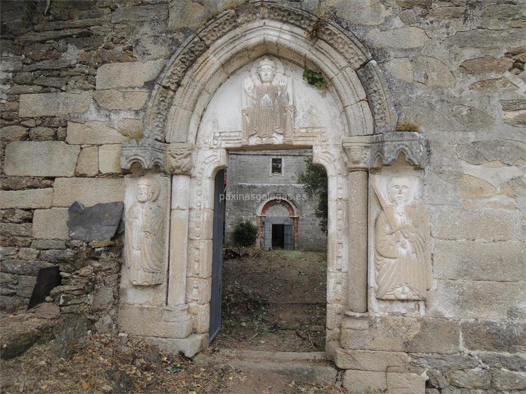
<svg viewBox="0 0 526 394">
<path fill-rule="evenodd" d="M 211 347 L 323 351 L 326 253 L 239 252 L 223 262 L 222 329 Z"/>
</svg>

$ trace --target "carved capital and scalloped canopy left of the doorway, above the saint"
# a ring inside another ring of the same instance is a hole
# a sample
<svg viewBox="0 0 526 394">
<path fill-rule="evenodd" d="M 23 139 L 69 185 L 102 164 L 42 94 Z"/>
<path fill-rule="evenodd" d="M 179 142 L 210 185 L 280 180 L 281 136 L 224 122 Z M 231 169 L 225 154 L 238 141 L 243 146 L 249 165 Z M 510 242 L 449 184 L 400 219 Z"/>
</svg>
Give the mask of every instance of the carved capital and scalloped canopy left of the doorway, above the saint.
<svg viewBox="0 0 526 394">
<path fill-rule="evenodd" d="M 193 168 L 189 143 L 162 143 L 150 138 L 124 141 L 120 150 L 120 167 L 130 170 L 139 163 L 145 170 L 157 168 L 168 174 L 190 174 Z"/>
</svg>

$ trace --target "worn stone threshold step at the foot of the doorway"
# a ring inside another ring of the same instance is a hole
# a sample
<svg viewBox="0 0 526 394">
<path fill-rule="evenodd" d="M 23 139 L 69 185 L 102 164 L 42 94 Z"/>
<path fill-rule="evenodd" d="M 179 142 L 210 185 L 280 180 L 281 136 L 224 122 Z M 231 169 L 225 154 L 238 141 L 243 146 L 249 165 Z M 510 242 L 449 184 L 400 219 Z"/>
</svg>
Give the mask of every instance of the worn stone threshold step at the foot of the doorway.
<svg viewBox="0 0 526 394">
<path fill-rule="evenodd" d="M 216 355 L 197 355 L 193 361 L 200 366 L 269 372 L 298 383 L 333 383 L 338 372 L 324 352 L 222 350 Z"/>
</svg>

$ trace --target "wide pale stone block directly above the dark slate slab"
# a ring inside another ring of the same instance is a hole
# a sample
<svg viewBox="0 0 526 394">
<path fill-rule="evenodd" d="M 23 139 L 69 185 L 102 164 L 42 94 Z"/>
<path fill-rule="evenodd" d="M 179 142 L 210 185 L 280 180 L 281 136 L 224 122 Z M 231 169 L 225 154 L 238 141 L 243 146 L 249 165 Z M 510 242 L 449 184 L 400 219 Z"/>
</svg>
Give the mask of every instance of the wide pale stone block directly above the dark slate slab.
<svg viewBox="0 0 526 394">
<path fill-rule="evenodd" d="M 69 206 L 75 201 L 84 205 L 123 201 L 124 180 L 112 178 L 57 178 L 53 206 Z"/>
</svg>

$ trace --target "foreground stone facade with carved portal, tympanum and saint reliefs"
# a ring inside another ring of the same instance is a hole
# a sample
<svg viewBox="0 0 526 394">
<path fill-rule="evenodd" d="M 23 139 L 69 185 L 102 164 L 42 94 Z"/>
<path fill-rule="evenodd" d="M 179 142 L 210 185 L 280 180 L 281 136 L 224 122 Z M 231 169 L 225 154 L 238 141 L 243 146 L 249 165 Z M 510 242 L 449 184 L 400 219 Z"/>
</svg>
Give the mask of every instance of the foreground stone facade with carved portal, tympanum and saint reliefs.
<svg viewBox="0 0 526 394">
<path fill-rule="evenodd" d="M 2 8 L 3 305 L 59 266 L 64 315 L 195 355 L 217 171 L 311 149 L 343 385 L 524 390 L 521 0 Z M 124 202 L 124 236 L 71 239 L 75 201 Z"/>
</svg>

